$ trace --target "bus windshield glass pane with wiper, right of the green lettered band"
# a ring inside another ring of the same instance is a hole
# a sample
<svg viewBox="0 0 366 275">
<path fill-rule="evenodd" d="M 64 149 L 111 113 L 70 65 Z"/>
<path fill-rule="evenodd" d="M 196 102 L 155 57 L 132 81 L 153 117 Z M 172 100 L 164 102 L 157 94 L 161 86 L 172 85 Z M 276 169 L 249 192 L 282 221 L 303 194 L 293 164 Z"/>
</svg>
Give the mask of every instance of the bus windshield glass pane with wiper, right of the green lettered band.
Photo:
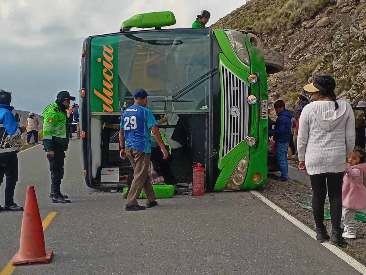
<svg viewBox="0 0 366 275">
<path fill-rule="evenodd" d="M 153 112 L 209 108 L 210 30 L 164 30 L 122 34 L 118 41 L 118 99 L 132 103 L 137 88 L 149 94 Z M 200 79 L 182 93 L 183 88 Z M 198 84 L 198 85 L 197 85 Z M 126 106 L 126 104 L 124 104 Z"/>
</svg>

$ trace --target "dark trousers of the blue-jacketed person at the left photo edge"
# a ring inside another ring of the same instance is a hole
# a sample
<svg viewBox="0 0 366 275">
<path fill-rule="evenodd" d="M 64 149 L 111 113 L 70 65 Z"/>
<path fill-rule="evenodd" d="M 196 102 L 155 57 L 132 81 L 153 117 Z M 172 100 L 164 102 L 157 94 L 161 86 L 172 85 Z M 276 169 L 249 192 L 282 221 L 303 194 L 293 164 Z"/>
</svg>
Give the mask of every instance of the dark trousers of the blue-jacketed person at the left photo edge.
<svg viewBox="0 0 366 275">
<path fill-rule="evenodd" d="M 14 190 L 16 181 L 18 181 L 18 156 L 16 154 L 0 155 L 0 185 L 5 182 L 5 205 L 12 206 L 14 204 Z"/>
</svg>

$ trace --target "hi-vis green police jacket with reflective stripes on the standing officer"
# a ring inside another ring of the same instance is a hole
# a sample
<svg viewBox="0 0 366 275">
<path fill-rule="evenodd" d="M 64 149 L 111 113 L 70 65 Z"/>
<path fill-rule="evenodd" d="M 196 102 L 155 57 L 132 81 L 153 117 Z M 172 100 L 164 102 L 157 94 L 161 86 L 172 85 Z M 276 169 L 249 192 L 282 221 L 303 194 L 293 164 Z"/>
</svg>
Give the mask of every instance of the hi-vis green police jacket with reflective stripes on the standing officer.
<svg viewBox="0 0 366 275">
<path fill-rule="evenodd" d="M 70 129 L 66 127 L 67 113 L 57 102 L 48 105 L 42 112 L 43 122 L 43 145 L 47 152 L 53 151 L 53 146 L 59 144 L 64 151 L 67 151 Z"/>
</svg>

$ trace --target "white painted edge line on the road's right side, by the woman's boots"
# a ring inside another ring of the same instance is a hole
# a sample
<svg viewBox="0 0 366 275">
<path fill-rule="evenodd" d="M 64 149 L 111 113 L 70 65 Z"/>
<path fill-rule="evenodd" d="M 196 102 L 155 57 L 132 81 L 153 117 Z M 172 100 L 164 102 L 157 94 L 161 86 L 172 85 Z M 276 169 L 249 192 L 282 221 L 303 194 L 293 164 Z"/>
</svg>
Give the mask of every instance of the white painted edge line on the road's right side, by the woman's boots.
<svg viewBox="0 0 366 275">
<path fill-rule="evenodd" d="M 301 223 L 299 220 L 292 217 L 290 214 L 282 210 L 279 206 L 275 205 L 275 203 L 271 202 L 266 197 L 262 196 L 255 190 L 249 190 L 255 197 L 260 199 L 262 202 L 264 202 L 266 205 L 268 205 L 270 208 L 275 210 L 277 213 L 279 213 L 281 216 L 286 218 L 287 220 L 291 221 L 291 223 L 295 224 L 298 228 L 300 228 L 302 231 L 304 231 L 306 234 L 308 234 L 311 238 L 316 240 L 316 233 L 311 230 L 309 227 L 307 227 L 305 224 Z M 351 265 L 354 269 L 356 269 L 358 272 L 360 272 L 362 275 L 366 275 L 366 267 L 365 265 L 359 263 L 354 258 L 349 256 L 346 252 L 342 251 L 335 245 L 331 245 L 328 242 L 320 243 L 322 246 L 324 246 L 326 249 L 330 250 L 330 252 L 333 252 L 338 257 L 340 257 L 343 261 L 345 261 L 347 264 Z"/>
</svg>

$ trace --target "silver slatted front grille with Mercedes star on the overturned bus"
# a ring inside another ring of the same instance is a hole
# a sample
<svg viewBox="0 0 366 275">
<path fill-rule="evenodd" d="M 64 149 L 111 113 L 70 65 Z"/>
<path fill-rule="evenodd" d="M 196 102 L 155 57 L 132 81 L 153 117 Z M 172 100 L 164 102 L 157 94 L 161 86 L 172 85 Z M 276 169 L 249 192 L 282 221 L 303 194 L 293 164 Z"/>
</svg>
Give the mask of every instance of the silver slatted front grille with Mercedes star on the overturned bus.
<svg viewBox="0 0 366 275">
<path fill-rule="evenodd" d="M 248 85 L 221 63 L 223 135 L 221 160 L 248 135 Z"/>
</svg>

